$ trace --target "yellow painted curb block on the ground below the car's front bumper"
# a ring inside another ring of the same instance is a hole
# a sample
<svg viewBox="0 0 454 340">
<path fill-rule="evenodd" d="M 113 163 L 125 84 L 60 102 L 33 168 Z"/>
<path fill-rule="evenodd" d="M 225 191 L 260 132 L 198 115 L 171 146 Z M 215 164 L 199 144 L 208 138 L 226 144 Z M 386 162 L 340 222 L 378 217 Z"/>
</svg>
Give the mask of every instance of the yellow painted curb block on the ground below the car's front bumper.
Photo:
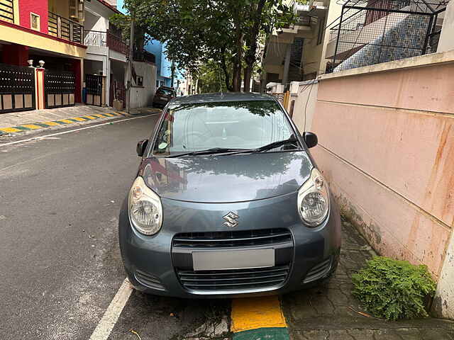
<svg viewBox="0 0 454 340">
<path fill-rule="evenodd" d="M 231 331 L 287 327 L 277 296 L 245 297 L 232 301 Z"/>
</svg>

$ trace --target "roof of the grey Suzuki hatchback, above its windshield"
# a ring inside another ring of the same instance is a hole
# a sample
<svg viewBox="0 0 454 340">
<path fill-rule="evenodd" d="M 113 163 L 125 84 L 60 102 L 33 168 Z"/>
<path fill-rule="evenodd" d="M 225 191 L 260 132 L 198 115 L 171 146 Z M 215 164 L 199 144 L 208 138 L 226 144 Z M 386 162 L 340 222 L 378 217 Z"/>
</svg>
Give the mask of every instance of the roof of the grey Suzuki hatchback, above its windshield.
<svg viewBox="0 0 454 340">
<path fill-rule="evenodd" d="M 227 92 L 216 94 L 194 94 L 173 98 L 171 105 L 223 102 L 223 101 L 275 101 L 269 94 L 255 94 L 253 92 Z"/>
</svg>

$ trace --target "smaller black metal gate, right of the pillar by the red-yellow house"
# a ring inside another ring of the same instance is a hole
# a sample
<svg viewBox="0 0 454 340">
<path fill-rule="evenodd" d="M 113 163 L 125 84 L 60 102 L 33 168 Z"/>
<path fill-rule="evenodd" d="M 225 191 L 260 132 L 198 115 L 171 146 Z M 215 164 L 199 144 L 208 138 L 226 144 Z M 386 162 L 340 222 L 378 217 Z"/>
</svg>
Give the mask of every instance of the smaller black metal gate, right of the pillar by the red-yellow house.
<svg viewBox="0 0 454 340">
<path fill-rule="evenodd" d="M 45 70 L 45 108 L 74 106 L 75 79 L 73 72 Z"/>
</svg>

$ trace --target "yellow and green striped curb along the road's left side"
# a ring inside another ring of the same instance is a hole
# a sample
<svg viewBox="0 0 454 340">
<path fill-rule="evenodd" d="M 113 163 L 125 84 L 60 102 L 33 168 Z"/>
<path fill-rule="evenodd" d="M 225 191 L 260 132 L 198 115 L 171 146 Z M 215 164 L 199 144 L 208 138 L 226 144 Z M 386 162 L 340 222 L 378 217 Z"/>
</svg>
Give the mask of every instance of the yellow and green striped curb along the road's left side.
<svg viewBox="0 0 454 340">
<path fill-rule="evenodd" d="M 50 128 L 52 126 L 57 126 L 57 125 L 69 125 L 69 124 L 74 124 L 74 123 L 87 122 L 89 120 L 96 120 L 99 118 L 112 118 L 112 117 L 122 116 L 122 115 L 125 117 L 131 116 L 128 113 L 121 113 L 121 112 L 94 113 L 92 115 L 81 115 L 79 117 L 65 118 L 65 119 L 60 119 L 60 120 L 51 120 L 48 122 L 38 122 L 38 123 L 32 123 L 32 124 L 11 126 L 10 128 L 0 128 L 0 136 L 6 135 L 9 133 L 18 133 L 18 132 L 26 132 L 26 131 L 30 131 L 30 130 L 46 129 L 46 128 Z"/>
</svg>

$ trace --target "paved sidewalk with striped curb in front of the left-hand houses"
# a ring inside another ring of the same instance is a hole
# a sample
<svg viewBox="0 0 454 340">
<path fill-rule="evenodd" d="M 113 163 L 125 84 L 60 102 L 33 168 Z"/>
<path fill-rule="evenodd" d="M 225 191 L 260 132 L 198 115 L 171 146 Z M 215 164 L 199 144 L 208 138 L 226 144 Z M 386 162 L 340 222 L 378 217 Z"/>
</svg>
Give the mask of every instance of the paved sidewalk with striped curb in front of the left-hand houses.
<svg viewBox="0 0 454 340">
<path fill-rule="evenodd" d="M 137 108 L 131 114 L 113 108 L 77 105 L 66 108 L 3 113 L 0 115 L 0 136 L 30 133 L 44 129 L 65 128 L 65 125 L 83 125 L 92 120 L 109 120 L 129 115 L 159 113 L 156 108 Z"/>
</svg>

